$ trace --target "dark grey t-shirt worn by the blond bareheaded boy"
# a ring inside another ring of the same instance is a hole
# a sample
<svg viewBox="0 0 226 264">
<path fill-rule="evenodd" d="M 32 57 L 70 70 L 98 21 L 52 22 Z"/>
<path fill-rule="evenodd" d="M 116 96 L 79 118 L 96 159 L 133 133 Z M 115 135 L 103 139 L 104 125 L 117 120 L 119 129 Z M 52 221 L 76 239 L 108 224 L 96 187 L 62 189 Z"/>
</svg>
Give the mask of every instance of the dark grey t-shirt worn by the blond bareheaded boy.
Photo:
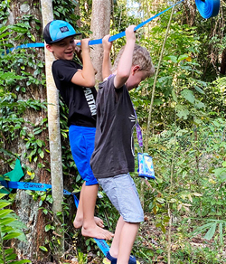
<svg viewBox="0 0 226 264">
<path fill-rule="evenodd" d="M 134 108 L 126 86 L 115 89 L 111 77 L 99 84 L 95 148 L 90 159 L 94 176 L 134 172 Z"/>
</svg>

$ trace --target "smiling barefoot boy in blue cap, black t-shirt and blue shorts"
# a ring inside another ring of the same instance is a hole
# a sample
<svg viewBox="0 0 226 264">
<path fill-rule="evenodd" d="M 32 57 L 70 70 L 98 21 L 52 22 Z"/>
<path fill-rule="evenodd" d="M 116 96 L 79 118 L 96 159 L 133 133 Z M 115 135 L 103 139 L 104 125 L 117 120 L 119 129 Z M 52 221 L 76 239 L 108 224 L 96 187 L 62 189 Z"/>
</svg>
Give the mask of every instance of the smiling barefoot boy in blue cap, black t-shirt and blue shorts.
<svg viewBox="0 0 226 264">
<path fill-rule="evenodd" d="M 110 240 L 113 234 L 103 229 L 103 222 L 94 217 L 99 184 L 89 165 L 94 149 L 96 132 L 95 72 L 89 56 L 89 39 L 75 41 L 76 33 L 71 24 L 53 20 L 44 28 L 46 48 L 56 61 L 52 75 L 61 97 L 69 108 L 69 138 L 71 152 L 78 171 L 85 181 L 80 192 L 80 203 L 73 222 L 81 227 L 83 236 Z M 76 44 L 81 42 L 83 67 L 73 61 Z"/>
</svg>

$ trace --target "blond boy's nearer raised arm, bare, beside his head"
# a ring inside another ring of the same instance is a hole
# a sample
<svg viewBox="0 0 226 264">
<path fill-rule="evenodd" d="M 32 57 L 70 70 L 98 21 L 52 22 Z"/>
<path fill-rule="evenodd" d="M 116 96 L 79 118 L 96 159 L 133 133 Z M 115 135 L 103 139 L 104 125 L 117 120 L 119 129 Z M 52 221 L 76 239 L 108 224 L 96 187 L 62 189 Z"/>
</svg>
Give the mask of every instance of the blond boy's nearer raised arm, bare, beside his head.
<svg viewBox="0 0 226 264">
<path fill-rule="evenodd" d="M 127 44 L 120 60 L 118 61 L 117 74 L 114 80 L 114 85 L 117 89 L 122 87 L 127 82 L 131 72 L 134 46 L 136 42 L 134 28 L 135 25 L 129 25 L 126 30 Z"/>
</svg>

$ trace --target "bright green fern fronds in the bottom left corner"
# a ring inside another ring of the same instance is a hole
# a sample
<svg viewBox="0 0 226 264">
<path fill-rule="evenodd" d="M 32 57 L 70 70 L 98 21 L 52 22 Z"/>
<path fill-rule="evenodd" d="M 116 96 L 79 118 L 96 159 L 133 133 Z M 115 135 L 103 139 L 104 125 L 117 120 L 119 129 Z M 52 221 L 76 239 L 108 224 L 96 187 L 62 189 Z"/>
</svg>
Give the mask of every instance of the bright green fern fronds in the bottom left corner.
<svg viewBox="0 0 226 264">
<path fill-rule="evenodd" d="M 0 190 L 3 186 L 0 186 Z M 23 229 L 26 228 L 23 222 L 18 220 L 18 217 L 14 214 L 13 210 L 5 209 L 11 203 L 2 198 L 5 193 L 0 193 L 0 263 L 14 263 L 22 264 L 32 262 L 28 259 L 15 260 L 17 255 L 14 253 L 14 249 L 5 248 L 4 241 L 6 240 L 22 240 L 26 241 Z"/>
</svg>

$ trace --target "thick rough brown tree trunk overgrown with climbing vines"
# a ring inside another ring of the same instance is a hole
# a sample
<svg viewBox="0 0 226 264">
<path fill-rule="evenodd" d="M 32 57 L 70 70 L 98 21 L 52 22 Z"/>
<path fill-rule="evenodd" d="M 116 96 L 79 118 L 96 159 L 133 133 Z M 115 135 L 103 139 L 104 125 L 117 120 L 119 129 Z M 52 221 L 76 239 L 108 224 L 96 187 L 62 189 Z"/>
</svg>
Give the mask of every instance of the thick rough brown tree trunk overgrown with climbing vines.
<svg viewBox="0 0 226 264">
<path fill-rule="evenodd" d="M 42 27 L 37 30 L 35 28 L 37 22 L 34 21 L 34 19 L 42 21 L 39 0 L 11 0 L 9 13 L 8 24 L 16 24 L 18 22 L 27 21 L 32 27 L 31 34 L 35 37 L 35 42 L 42 42 Z M 16 39 L 13 39 L 12 41 L 15 46 L 21 44 L 16 42 Z M 32 42 L 31 39 L 29 42 Z M 27 54 L 33 53 L 33 60 L 44 62 L 42 49 L 36 49 L 35 52 L 32 52 L 31 50 L 24 52 L 27 52 Z M 33 73 L 34 70 L 34 68 L 26 66 L 24 71 Z M 18 68 L 18 71 L 20 71 L 20 68 Z M 41 75 L 35 76 L 35 78 L 42 80 Z M 29 85 L 24 83 L 24 87 L 26 92 L 19 94 L 19 99 L 24 101 L 28 99 L 40 99 L 41 101 L 46 100 L 46 91 L 42 85 Z M 28 108 L 24 113 L 24 119 L 27 122 L 24 126 L 27 127 L 26 131 L 28 133 L 33 134 L 33 128 L 40 127 L 43 129 L 42 133 L 35 136 L 35 138 L 40 139 L 45 143 L 45 146 L 42 146 L 43 157 L 37 155 L 36 162 L 33 162 L 33 159 L 30 162 L 27 157 L 24 157 L 26 153 L 29 152 L 25 145 L 27 141 L 24 141 L 24 138 L 20 138 L 16 142 L 12 142 L 11 146 L 9 146 L 9 150 L 20 156 L 21 163 L 24 167 L 25 179 L 31 178 L 29 173 L 32 172 L 35 175 L 33 182 L 51 184 L 50 174 L 46 170 L 48 169 L 48 164 L 50 163 L 49 155 L 45 152 L 45 149 L 49 148 L 49 143 L 47 141 L 48 134 L 46 127 L 41 123 L 42 119 L 46 117 L 47 113 L 44 110 L 36 111 Z M 34 126 L 31 124 L 34 124 Z M 38 163 L 45 166 L 45 169 L 40 168 Z M 24 181 L 24 178 L 21 181 Z M 16 253 L 20 259 L 31 259 L 33 262 L 37 260 L 50 260 L 50 256 L 48 256 L 49 254 L 47 255 L 39 248 L 40 246 L 45 246 L 45 240 L 49 240 L 48 234 L 44 229 L 47 224 L 46 216 L 43 214 L 42 210 L 39 210 L 39 202 L 40 198 L 38 198 L 37 201 L 34 201 L 33 196 L 27 194 L 24 190 L 17 190 L 15 203 L 13 205 L 14 211 L 27 226 L 25 233 L 27 234 L 26 238 L 28 240 L 28 243 L 24 243 L 22 241 L 18 242 L 18 240 L 15 240 L 14 249 L 16 249 Z"/>
</svg>

